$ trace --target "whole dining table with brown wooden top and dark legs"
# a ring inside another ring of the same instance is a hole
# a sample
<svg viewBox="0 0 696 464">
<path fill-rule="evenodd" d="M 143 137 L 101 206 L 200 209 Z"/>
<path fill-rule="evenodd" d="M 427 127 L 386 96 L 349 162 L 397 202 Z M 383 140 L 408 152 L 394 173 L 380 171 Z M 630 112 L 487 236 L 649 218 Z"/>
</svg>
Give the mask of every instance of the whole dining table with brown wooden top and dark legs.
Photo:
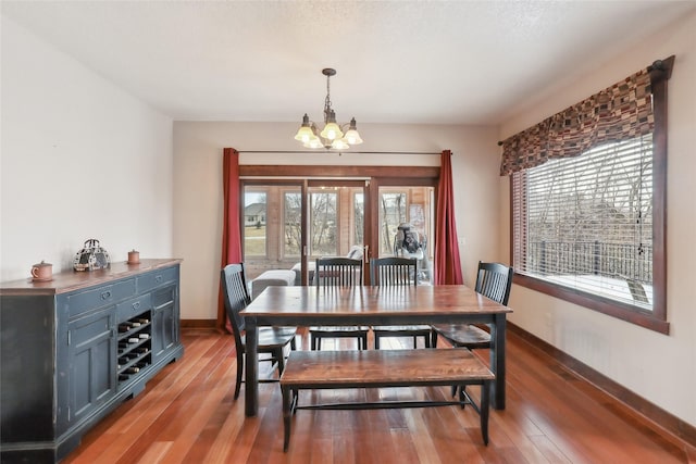
<svg viewBox="0 0 696 464">
<path fill-rule="evenodd" d="M 271 286 L 240 312 L 246 323 L 245 413 L 259 410 L 258 335 L 261 326 L 375 326 L 487 324 L 489 368 L 496 378 L 490 405 L 506 402 L 506 319 L 512 310 L 465 285 Z"/>
</svg>

